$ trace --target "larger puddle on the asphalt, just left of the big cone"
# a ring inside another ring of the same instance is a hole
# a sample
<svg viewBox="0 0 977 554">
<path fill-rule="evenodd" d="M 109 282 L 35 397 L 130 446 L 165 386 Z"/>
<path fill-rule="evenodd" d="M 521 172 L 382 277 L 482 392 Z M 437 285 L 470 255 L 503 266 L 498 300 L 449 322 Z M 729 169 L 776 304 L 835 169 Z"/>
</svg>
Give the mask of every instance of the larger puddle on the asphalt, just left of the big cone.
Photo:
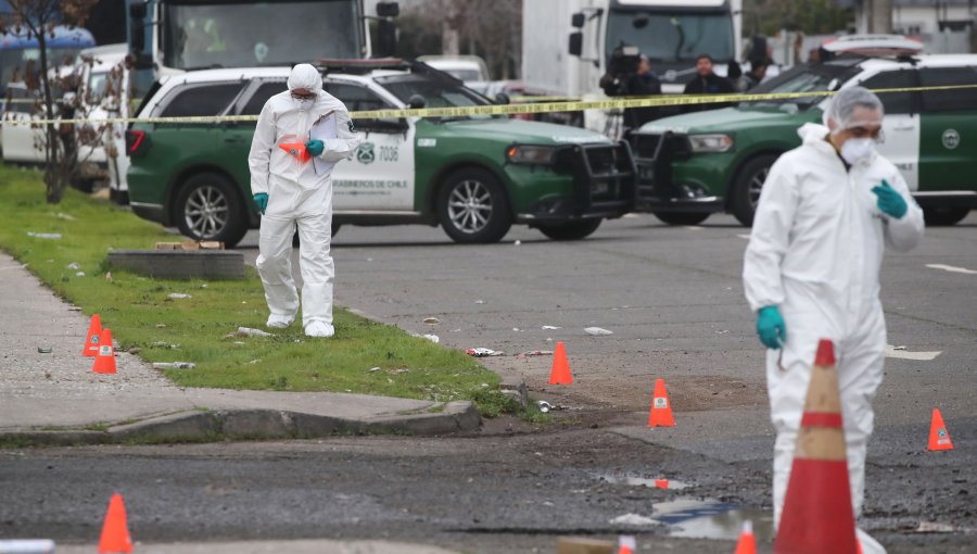
<svg viewBox="0 0 977 554">
<path fill-rule="evenodd" d="M 773 540 L 773 513 L 756 508 L 743 508 L 713 500 L 676 499 L 657 502 L 651 519 L 670 527 L 669 537 L 688 539 L 739 539 L 745 521 L 753 522 L 758 542 Z"/>
</svg>

